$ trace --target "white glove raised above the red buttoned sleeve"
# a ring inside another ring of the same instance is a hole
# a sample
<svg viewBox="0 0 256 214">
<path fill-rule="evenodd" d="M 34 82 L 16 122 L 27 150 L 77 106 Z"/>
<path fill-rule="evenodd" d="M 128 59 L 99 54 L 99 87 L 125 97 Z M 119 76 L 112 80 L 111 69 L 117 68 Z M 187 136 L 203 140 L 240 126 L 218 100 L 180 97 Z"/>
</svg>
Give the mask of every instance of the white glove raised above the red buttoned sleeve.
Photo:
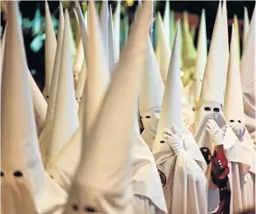
<svg viewBox="0 0 256 214">
<path fill-rule="evenodd" d="M 207 131 L 211 136 L 212 142 L 215 146 L 223 145 L 223 135 L 219 125 L 216 121 L 210 119 L 207 121 Z"/>
</svg>

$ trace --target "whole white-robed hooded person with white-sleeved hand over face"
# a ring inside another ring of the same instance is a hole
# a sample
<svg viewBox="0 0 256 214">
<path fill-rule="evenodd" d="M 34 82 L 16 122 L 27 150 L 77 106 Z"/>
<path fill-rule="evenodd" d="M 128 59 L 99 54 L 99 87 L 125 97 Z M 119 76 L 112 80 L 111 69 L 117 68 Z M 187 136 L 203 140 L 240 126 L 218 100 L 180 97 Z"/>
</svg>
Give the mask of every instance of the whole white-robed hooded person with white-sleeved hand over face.
<svg viewBox="0 0 256 214">
<path fill-rule="evenodd" d="M 181 119 L 182 84 L 179 72 L 178 22 L 153 153 L 161 176 L 168 213 L 207 213 L 207 180 L 197 164 L 200 162 L 202 165 L 205 161 Z M 168 134 L 165 134 L 165 130 Z"/>
</svg>

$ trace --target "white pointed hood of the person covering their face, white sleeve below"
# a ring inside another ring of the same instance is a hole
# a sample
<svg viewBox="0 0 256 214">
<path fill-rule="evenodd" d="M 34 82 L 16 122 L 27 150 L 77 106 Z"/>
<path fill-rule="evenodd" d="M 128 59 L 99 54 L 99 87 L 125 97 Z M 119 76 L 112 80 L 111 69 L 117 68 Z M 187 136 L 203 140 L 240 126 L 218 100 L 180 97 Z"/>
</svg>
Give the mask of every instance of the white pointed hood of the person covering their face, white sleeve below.
<svg viewBox="0 0 256 214">
<path fill-rule="evenodd" d="M 165 94 L 162 103 L 160 121 L 157 128 L 156 139 L 153 144 L 153 153 L 161 150 L 165 144 L 161 143 L 162 134 L 166 129 L 170 130 L 172 125 L 187 139 L 185 141 L 184 149 L 189 154 L 189 157 L 199 162 L 204 162 L 202 153 L 200 152 L 197 143 L 193 139 L 192 134 L 185 127 L 182 115 L 182 82 L 180 80 L 180 65 L 179 65 L 179 22 L 177 25 L 175 42 L 172 49 L 172 56 L 170 57 L 170 67 L 165 83 Z"/>
</svg>

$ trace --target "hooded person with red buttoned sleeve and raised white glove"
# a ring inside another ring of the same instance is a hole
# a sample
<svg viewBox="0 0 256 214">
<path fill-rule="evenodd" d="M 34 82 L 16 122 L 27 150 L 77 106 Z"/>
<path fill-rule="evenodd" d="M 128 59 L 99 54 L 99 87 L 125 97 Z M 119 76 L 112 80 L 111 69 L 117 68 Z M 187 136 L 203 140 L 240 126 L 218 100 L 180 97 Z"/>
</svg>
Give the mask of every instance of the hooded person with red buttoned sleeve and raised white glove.
<svg viewBox="0 0 256 214">
<path fill-rule="evenodd" d="M 220 83 L 227 72 L 226 52 L 220 52 L 223 48 L 224 25 L 222 20 L 220 2 L 194 125 L 194 139 L 208 165 L 208 212 L 216 213 L 220 213 L 221 209 L 228 210 L 230 196 L 230 192 L 226 189 L 229 168 L 222 146 L 223 137 L 221 134 L 221 128 L 226 125 L 226 121 L 222 108 L 225 86 Z M 212 183 L 216 185 L 212 185 Z M 225 191 L 222 191 L 222 188 L 225 188 Z"/>
</svg>

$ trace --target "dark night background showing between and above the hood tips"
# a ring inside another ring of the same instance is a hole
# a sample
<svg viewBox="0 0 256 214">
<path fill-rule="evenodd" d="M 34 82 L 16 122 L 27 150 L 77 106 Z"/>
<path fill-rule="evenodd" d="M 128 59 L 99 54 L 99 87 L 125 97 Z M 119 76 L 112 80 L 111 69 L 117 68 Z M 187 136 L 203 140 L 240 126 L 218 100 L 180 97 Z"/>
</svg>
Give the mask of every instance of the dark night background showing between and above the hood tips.
<svg viewBox="0 0 256 214">
<path fill-rule="evenodd" d="M 58 1 L 49 1 L 49 9 L 51 14 L 54 15 L 58 19 Z M 109 4 L 112 4 L 112 8 L 115 7 L 116 2 L 109 1 Z M 213 25 L 215 22 L 216 11 L 218 7 L 219 1 L 170 1 L 170 8 L 175 12 L 183 12 L 189 11 L 191 14 L 198 15 L 200 19 L 202 8 L 206 10 L 206 20 L 207 20 L 207 39 L 211 39 Z M 21 1 L 20 2 L 20 10 L 23 18 L 27 18 L 30 20 L 34 19 L 35 10 L 40 8 L 41 16 L 44 16 L 44 1 Z M 122 2 L 124 7 L 125 1 Z M 249 11 L 249 19 L 254 11 L 254 1 L 228 1 L 227 2 L 227 10 L 228 10 L 228 19 L 232 21 L 234 15 L 238 16 L 240 20 L 240 25 L 243 24 L 244 19 L 244 7 L 247 7 Z M 136 9 L 137 2 L 135 1 L 133 7 L 126 7 L 126 11 L 128 12 L 130 22 L 133 20 L 134 11 Z M 72 4 L 67 8 L 71 10 Z M 155 12 L 161 11 L 163 15 L 165 10 L 165 1 L 157 1 L 155 4 Z M 114 10 L 113 10 L 114 11 Z M 1 25 L 5 25 L 5 20 L 3 19 L 3 12 L 1 12 Z M 123 16 L 121 16 L 123 18 Z M 241 27 L 242 28 L 242 27 Z M 231 32 L 231 25 L 229 26 L 229 33 Z M 44 46 L 40 48 L 39 52 L 33 52 L 30 49 L 30 43 L 34 39 L 34 36 L 31 34 L 31 30 L 24 29 L 24 40 L 26 46 L 26 57 L 28 60 L 28 65 L 30 71 L 35 70 L 34 78 L 39 85 L 40 89 L 44 87 Z M 197 43 L 197 34 L 198 28 L 196 30 L 195 41 Z M 241 35 L 240 35 L 241 39 Z M 240 41 L 242 43 L 242 41 Z"/>
</svg>

